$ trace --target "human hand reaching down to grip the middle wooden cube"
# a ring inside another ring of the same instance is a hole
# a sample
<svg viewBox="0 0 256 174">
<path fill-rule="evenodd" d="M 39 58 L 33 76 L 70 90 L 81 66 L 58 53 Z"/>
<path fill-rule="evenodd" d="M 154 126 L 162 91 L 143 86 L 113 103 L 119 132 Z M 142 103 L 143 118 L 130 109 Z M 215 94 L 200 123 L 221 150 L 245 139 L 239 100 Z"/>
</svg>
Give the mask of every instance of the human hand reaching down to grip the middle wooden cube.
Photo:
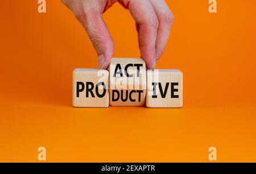
<svg viewBox="0 0 256 174">
<path fill-rule="evenodd" d="M 174 16 L 164 0 L 61 0 L 84 26 L 98 54 L 100 68 L 109 67 L 114 53 L 113 39 L 102 14 L 115 2 L 129 9 L 139 34 L 141 56 L 154 69 L 166 47 Z"/>
</svg>

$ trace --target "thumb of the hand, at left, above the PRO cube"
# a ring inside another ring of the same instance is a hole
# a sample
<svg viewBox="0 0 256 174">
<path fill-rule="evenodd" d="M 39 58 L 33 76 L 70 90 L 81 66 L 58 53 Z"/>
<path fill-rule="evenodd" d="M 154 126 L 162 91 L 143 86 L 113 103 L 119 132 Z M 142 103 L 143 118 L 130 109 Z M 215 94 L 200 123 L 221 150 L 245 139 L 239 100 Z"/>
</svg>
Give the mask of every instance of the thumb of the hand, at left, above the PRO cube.
<svg viewBox="0 0 256 174">
<path fill-rule="evenodd" d="M 107 69 L 114 53 L 114 42 L 102 18 L 102 13 L 88 10 L 82 11 L 76 17 L 84 26 L 96 49 L 100 68 Z"/>
</svg>

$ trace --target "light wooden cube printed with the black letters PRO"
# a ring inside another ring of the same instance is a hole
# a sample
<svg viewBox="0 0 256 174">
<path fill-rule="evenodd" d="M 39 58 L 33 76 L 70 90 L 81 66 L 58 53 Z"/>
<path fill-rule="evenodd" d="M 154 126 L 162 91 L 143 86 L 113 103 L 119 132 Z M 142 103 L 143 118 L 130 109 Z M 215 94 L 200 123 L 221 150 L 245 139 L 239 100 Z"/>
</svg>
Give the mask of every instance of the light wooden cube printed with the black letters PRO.
<svg viewBox="0 0 256 174">
<path fill-rule="evenodd" d="M 109 107 L 109 72 L 102 69 L 75 69 L 73 106 Z"/>
</svg>

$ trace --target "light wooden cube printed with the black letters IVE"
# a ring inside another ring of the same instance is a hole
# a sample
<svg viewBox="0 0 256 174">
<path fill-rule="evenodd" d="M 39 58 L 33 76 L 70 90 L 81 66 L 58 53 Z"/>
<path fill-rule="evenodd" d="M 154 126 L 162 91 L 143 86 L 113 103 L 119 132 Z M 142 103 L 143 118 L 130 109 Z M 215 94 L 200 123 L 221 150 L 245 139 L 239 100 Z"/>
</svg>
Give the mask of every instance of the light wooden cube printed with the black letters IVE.
<svg viewBox="0 0 256 174">
<path fill-rule="evenodd" d="M 183 107 L 183 73 L 174 69 L 147 71 L 147 107 Z"/>
</svg>

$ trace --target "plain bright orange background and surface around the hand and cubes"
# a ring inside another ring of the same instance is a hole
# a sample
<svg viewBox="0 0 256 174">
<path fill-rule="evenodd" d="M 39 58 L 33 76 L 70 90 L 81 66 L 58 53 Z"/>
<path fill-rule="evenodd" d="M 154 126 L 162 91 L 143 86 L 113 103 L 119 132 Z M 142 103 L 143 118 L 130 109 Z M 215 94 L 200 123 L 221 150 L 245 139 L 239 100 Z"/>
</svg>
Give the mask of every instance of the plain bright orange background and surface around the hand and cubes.
<svg viewBox="0 0 256 174">
<path fill-rule="evenodd" d="M 0 161 L 256 162 L 255 0 L 167 1 L 175 15 L 156 68 L 184 73 L 183 109 L 72 107 L 72 71 L 97 68 L 97 55 L 71 11 L 47 0 L 0 5 Z M 105 14 L 115 57 L 138 57 L 129 11 Z"/>
</svg>

